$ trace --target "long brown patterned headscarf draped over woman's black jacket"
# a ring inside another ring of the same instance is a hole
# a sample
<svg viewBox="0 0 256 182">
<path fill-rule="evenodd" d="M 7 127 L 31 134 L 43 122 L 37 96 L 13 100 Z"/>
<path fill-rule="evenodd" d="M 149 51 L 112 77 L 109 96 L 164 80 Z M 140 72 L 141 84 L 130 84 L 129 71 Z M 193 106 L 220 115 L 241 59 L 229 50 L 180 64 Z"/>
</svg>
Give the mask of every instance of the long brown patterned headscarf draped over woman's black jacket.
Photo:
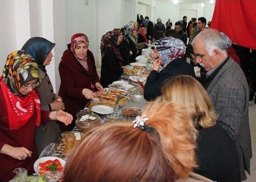
<svg viewBox="0 0 256 182">
<path fill-rule="evenodd" d="M 116 57 L 118 57 L 118 59 L 123 60 L 120 51 L 118 49 L 118 36 L 121 34 L 121 29 L 119 28 L 115 28 L 112 31 L 107 32 L 106 34 L 104 34 L 101 38 L 101 42 L 100 42 L 100 51 L 101 51 L 101 55 L 102 57 L 104 56 L 104 54 L 106 53 L 106 51 L 111 48 L 114 50 Z"/>
</svg>

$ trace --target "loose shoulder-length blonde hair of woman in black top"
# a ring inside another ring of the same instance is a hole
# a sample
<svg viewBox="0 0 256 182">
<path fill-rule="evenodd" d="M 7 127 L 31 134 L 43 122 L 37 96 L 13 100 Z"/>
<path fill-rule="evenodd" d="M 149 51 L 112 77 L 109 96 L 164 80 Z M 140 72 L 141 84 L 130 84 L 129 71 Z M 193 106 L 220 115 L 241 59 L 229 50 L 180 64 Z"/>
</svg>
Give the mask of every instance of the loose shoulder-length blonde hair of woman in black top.
<svg viewBox="0 0 256 182">
<path fill-rule="evenodd" d="M 185 107 L 194 127 L 209 128 L 215 125 L 218 115 L 208 93 L 193 77 L 176 76 L 162 88 L 163 99 Z"/>
</svg>

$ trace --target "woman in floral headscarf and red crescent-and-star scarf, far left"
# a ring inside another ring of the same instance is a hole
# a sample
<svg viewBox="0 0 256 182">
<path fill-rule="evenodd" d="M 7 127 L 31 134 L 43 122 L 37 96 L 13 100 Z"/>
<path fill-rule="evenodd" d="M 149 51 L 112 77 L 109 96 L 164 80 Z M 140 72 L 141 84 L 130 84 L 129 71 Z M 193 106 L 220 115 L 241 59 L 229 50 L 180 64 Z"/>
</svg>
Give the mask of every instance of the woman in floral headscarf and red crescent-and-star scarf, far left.
<svg viewBox="0 0 256 182">
<path fill-rule="evenodd" d="M 25 51 L 14 51 L 7 57 L 0 77 L 0 181 L 11 180 L 13 170 L 23 167 L 34 172 L 37 159 L 36 126 L 59 120 L 65 125 L 72 116 L 64 111 L 41 111 L 36 86 L 42 81 L 38 65 Z"/>
</svg>

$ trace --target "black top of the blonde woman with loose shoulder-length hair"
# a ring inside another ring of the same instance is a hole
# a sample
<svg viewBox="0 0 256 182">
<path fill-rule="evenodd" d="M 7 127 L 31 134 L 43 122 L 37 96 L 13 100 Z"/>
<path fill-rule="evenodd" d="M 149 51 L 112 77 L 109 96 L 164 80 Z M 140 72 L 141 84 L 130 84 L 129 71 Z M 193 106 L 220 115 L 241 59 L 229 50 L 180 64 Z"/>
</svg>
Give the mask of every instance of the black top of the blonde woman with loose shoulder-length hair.
<svg viewBox="0 0 256 182">
<path fill-rule="evenodd" d="M 218 182 L 240 182 L 239 158 L 234 141 L 219 125 L 199 129 L 195 173 Z"/>
</svg>

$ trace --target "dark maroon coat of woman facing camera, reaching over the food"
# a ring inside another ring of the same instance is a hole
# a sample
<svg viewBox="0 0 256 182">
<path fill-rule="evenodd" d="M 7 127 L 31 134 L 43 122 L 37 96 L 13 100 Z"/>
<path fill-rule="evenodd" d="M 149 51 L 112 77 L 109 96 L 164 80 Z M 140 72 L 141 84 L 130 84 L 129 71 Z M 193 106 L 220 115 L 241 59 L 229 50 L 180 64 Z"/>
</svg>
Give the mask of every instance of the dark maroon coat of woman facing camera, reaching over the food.
<svg viewBox="0 0 256 182">
<path fill-rule="evenodd" d="M 88 99 L 82 95 L 84 88 L 91 89 L 91 83 L 100 82 L 94 56 L 91 51 L 87 51 L 87 65 L 88 71 L 76 60 L 70 49 L 64 51 L 60 65 L 60 90 L 58 95 L 62 97 L 65 104 L 65 111 L 73 116 L 73 121 L 70 125 L 65 126 L 60 123 L 62 131 L 71 131 L 76 125 L 76 113 L 84 109 L 89 102 Z"/>
</svg>

